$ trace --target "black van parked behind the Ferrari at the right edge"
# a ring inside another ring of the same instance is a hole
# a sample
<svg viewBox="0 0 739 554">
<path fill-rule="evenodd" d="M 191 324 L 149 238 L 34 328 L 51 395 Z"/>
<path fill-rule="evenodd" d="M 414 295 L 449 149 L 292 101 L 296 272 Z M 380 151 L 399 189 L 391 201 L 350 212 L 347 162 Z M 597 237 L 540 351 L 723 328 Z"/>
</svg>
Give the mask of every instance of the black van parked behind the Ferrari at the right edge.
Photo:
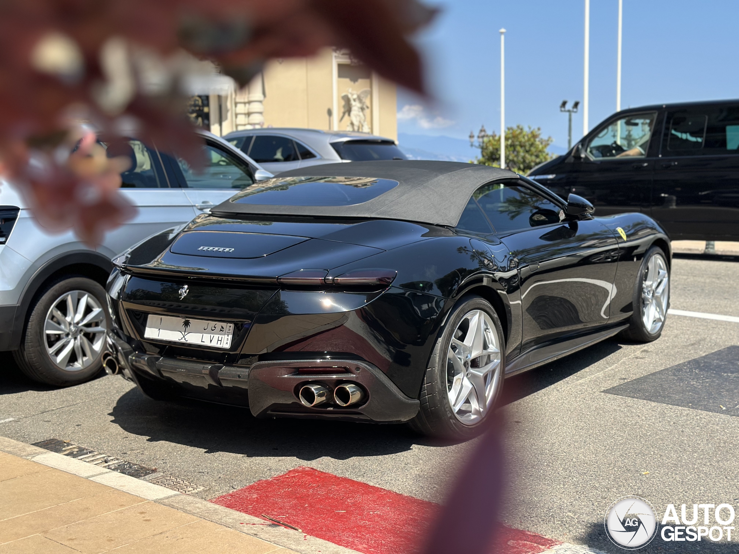
<svg viewBox="0 0 739 554">
<path fill-rule="evenodd" d="M 529 177 L 601 216 L 647 213 L 672 239 L 739 240 L 739 100 L 621 110 Z"/>
</svg>

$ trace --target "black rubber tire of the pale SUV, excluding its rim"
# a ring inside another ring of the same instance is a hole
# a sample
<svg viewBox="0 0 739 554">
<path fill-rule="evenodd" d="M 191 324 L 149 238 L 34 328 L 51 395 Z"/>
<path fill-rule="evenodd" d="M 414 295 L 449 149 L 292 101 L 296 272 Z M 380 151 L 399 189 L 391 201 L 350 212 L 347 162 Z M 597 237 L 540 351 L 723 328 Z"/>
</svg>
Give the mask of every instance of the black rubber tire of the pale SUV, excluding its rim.
<svg viewBox="0 0 739 554">
<path fill-rule="evenodd" d="M 100 284 L 80 276 L 65 276 L 50 283 L 35 299 L 35 304 L 30 307 L 30 316 L 21 338 L 21 347 L 13 352 L 13 358 L 21 371 L 38 383 L 52 386 L 78 385 L 89 381 L 103 369 L 103 353 L 106 350 L 104 338 L 103 346 L 93 358 L 92 363 L 76 371 L 67 371 L 57 366 L 47 352 L 47 337 L 44 333 L 47 314 L 58 298 L 74 290 L 84 291 L 95 299 L 103 310 L 106 329 L 110 329 L 111 321 L 106 307 L 106 293 Z"/>
</svg>

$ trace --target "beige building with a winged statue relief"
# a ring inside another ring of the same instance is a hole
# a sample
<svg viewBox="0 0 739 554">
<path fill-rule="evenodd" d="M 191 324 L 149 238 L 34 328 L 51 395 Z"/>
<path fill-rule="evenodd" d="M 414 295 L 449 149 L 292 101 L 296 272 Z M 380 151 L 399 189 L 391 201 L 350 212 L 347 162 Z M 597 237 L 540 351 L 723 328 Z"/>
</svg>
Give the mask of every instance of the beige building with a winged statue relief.
<svg viewBox="0 0 739 554">
<path fill-rule="evenodd" d="M 203 126 L 221 136 L 241 129 L 309 127 L 398 139 L 395 83 L 344 50 L 273 60 L 244 89 L 218 92 L 195 97 L 193 108 Z"/>
</svg>

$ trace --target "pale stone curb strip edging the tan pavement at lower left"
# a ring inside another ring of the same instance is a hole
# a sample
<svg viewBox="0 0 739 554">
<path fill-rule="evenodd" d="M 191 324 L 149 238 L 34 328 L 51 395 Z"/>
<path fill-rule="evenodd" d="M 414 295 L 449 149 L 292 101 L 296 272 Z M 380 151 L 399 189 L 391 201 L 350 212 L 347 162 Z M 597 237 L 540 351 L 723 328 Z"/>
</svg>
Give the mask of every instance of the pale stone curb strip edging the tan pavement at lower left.
<svg viewBox="0 0 739 554">
<path fill-rule="evenodd" d="M 270 523 L 265 519 L 248 516 L 245 513 L 231 510 L 231 508 L 197 499 L 194 496 L 177 493 L 174 490 L 123 475 L 123 473 L 98 468 L 87 462 L 68 458 L 62 454 L 56 454 L 25 442 L 0 436 L 0 451 L 90 479 L 101 483 L 101 485 L 157 502 L 157 504 L 172 507 L 191 516 L 212 521 L 239 531 L 239 533 L 259 538 L 262 541 L 268 541 L 277 547 L 284 547 L 302 554 L 361 554 L 355 550 L 340 547 L 338 544 L 324 541 L 322 538 L 308 536 L 299 531 L 282 527 L 282 525 Z"/>
</svg>

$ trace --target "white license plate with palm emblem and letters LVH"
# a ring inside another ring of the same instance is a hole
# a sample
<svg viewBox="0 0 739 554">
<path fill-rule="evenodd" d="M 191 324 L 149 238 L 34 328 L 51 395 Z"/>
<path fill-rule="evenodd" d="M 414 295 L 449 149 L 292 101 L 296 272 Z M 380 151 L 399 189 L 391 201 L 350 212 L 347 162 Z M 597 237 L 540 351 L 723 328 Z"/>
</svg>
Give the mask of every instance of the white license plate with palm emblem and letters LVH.
<svg viewBox="0 0 739 554">
<path fill-rule="evenodd" d="M 212 348 L 231 348 L 233 335 L 234 324 L 171 315 L 149 315 L 143 333 L 144 338 Z"/>
</svg>

